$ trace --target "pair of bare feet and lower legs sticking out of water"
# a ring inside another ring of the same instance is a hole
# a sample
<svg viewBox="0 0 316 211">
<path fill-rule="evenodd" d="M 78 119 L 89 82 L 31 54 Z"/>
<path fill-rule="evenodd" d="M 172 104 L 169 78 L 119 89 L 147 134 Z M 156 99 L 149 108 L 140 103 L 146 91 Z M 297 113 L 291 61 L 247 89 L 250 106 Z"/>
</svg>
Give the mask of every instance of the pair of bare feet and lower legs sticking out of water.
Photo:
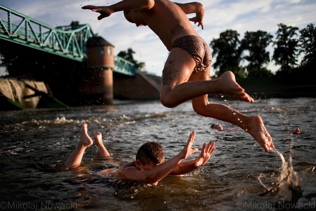
<svg viewBox="0 0 316 211">
<path fill-rule="evenodd" d="M 95 144 L 97 145 L 98 152 L 102 157 L 109 157 L 110 154 L 107 152 L 105 146 L 102 142 L 102 134 L 100 132 L 94 132 L 92 134 L 95 140 Z M 64 166 L 67 168 L 72 168 L 77 165 L 80 165 L 84 151 L 88 146 L 93 144 L 92 139 L 88 135 L 88 126 L 87 124 L 83 124 L 80 131 L 80 140 L 76 147 L 76 149 L 71 153 Z"/>
</svg>

